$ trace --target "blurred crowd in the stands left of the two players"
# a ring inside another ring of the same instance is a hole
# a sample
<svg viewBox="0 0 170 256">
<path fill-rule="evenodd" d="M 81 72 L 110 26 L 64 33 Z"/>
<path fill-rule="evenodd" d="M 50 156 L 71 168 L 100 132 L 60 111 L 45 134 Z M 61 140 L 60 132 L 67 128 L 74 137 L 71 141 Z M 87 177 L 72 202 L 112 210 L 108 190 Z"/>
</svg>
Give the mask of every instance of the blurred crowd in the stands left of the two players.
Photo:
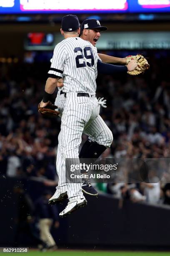
<svg viewBox="0 0 170 256">
<path fill-rule="evenodd" d="M 37 68 L 29 64 L 0 67 L 1 174 L 54 181 L 60 119 L 45 119 L 37 113 L 48 67 L 45 72 L 43 65 L 42 70 Z"/>
</svg>

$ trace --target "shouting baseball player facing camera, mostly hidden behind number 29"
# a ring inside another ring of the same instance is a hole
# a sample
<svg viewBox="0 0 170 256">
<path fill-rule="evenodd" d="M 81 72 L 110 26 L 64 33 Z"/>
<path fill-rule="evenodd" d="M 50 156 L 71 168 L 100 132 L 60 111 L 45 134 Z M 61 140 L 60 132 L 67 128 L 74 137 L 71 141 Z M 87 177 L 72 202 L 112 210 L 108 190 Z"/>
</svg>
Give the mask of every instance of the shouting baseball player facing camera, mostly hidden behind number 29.
<svg viewBox="0 0 170 256">
<path fill-rule="evenodd" d="M 88 26 L 88 28 L 87 28 Z M 85 28 L 84 28 L 85 27 Z M 84 20 L 81 26 L 81 38 L 90 41 L 93 46 L 96 45 L 96 41 L 100 37 L 100 31 L 107 30 L 106 27 L 100 26 L 100 23 L 96 19 L 88 19 Z M 98 54 L 103 62 L 120 62 L 122 64 L 126 64 L 126 58 L 116 58 L 114 56 L 108 56 L 105 54 Z M 100 105 L 105 107 L 102 103 L 105 104 L 105 102 L 99 102 Z M 65 105 L 65 95 L 62 91 L 62 88 L 59 88 L 59 92 L 57 94 L 55 105 L 58 106 L 58 110 L 60 111 L 60 115 L 62 116 L 62 112 Z M 100 115 L 91 123 L 91 125 L 86 128 L 84 131 L 89 138 L 82 146 L 82 149 L 80 151 L 80 158 L 98 158 L 103 151 L 107 147 L 110 147 L 112 143 L 112 132 L 107 127 L 105 122 L 102 120 Z M 58 171 L 59 179 L 63 180 L 65 173 L 62 170 L 63 169 L 63 163 L 62 157 L 61 157 L 61 149 L 60 149 L 60 135 L 59 135 L 59 144 L 58 144 L 58 150 L 57 150 L 57 163 L 56 168 Z M 92 184 L 88 180 L 84 180 L 82 184 L 82 191 L 85 192 L 88 195 L 97 196 L 98 192 L 95 190 L 95 188 L 92 187 Z M 63 197 L 67 197 L 67 193 L 63 193 Z M 60 197 L 62 199 L 62 197 Z M 50 198 L 49 203 L 53 204 L 58 201 L 58 188 L 55 192 L 55 194 Z"/>
</svg>

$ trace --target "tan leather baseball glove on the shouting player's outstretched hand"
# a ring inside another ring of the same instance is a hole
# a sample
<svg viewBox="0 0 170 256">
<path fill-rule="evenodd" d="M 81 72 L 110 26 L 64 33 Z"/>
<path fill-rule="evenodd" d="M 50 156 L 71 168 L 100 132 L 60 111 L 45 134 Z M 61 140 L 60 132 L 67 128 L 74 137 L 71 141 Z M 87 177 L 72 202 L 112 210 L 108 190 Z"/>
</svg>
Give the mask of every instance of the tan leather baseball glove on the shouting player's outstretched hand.
<svg viewBox="0 0 170 256">
<path fill-rule="evenodd" d="M 143 74 L 145 70 L 149 69 L 150 65 L 148 64 L 148 61 L 145 59 L 144 56 L 137 54 L 135 56 L 130 55 L 126 57 L 126 64 L 128 64 L 129 61 L 135 60 L 138 64 L 138 67 L 133 71 L 128 71 L 128 74 L 135 76 L 138 74 Z"/>
</svg>

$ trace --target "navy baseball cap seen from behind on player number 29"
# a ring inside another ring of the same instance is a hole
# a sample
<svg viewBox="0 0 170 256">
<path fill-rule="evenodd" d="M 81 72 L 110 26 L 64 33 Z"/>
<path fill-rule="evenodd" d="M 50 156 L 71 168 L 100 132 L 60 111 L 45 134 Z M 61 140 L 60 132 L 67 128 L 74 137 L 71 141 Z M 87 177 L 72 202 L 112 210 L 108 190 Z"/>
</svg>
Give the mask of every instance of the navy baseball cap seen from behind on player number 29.
<svg viewBox="0 0 170 256">
<path fill-rule="evenodd" d="M 63 31 L 72 32 L 80 28 L 80 23 L 76 15 L 66 15 L 62 17 L 61 28 Z"/>
</svg>

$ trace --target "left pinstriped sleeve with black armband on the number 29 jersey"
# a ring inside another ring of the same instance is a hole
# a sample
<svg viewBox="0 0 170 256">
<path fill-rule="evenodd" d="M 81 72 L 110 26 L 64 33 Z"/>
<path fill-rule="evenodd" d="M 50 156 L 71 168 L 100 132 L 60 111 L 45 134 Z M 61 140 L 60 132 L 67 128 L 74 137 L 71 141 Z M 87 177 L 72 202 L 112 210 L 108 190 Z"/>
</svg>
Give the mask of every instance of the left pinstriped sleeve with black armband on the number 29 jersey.
<svg viewBox="0 0 170 256">
<path fill-rule="evenodd" d="M 48 71 L 49 77 L 62 77 L 64 63 L 65 63 L 65 45 L 64 44 L 57 44 L 54 49 L 54 53 L 52 56 L 52 63 L 50 70 Z"/>
</svg>

